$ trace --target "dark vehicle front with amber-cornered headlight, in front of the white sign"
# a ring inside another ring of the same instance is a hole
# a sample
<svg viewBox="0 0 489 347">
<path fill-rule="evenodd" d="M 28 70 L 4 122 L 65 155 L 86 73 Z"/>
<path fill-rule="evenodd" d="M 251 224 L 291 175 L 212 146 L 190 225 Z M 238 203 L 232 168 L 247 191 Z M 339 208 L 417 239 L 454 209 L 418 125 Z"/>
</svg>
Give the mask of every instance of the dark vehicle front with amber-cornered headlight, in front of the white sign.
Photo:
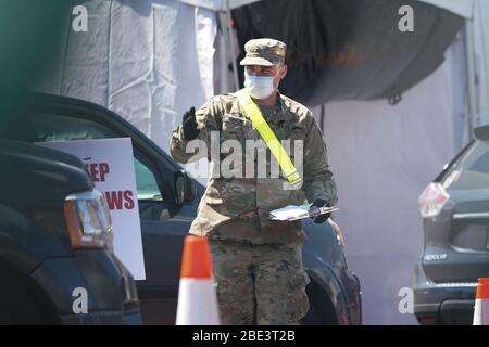
<svg viewBox="0 0 489 347">
<path fill-rule="evenodd" d="M 82 160 L 0 140 L 0 324 L 139 324 L 111 228 Z"/>
</svg>

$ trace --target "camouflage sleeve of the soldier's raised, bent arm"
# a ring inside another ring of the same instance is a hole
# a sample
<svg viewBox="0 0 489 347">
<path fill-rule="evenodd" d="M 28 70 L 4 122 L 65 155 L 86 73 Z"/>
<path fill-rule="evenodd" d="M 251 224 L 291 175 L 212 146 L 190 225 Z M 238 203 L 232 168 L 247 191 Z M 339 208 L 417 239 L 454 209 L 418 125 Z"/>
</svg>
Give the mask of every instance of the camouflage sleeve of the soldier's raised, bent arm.
<svg viewBox="0 0 489 347">
<path fill-rule="evenodd" d="M 209 157 L 211 151 L 211 131 L 220 130 L 220 106 L 216 100 L 211 99 L 208 103 L 196 110 L 197 139 L 187 141 L 184 139 L 184 129 L 178 126 L 172 133 L 170 153 L 178 163 L 186 164 Z"/>
</svg>

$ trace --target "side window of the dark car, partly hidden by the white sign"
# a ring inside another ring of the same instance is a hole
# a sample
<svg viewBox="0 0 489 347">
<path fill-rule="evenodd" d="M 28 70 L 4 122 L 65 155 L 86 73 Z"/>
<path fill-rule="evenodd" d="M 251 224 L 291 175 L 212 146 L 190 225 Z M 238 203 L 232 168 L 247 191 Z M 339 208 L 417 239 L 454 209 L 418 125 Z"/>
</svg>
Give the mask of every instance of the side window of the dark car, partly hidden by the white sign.
<svg viewBox="0 0 489 347">
<path fill-rule="evenodd" d="M 96 121 L 52 114 L 30 116 L 37 141 L 53 142 L 68 140 L 108 139 L 120 134 Z M 156 168 L 135 149 L 134 167 L 138 200 L 162 200 L 158 185 Z"/>
</svg>

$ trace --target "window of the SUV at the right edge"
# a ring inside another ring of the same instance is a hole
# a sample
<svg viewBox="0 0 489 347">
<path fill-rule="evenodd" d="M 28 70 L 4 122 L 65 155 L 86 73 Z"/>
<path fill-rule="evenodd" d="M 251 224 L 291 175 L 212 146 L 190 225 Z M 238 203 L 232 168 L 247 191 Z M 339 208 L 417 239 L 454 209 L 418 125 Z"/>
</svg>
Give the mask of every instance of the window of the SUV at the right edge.
<svg viewBox="0 0 489 347">
<path fill-rule="evenodd" d="M 476 141 L 447 171 L 443 185 L 450 189 L 489 187 L 489 142 Z"/>
</svg>

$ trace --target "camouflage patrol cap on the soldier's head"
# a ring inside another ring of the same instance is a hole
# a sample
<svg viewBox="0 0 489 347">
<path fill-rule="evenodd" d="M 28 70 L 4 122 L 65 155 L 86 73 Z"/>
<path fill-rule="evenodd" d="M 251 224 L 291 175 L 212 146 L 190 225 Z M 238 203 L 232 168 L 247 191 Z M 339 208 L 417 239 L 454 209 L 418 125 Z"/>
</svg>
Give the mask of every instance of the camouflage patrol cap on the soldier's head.
<svg viewBox="0 0 489 347">
<path fill-rule="evenodd" d="M 253 39 L 244 44 L 247 55 L 240 65 L 273 66 L 285 62 L 287 44 L 274 39 Z"/>
</svg>

